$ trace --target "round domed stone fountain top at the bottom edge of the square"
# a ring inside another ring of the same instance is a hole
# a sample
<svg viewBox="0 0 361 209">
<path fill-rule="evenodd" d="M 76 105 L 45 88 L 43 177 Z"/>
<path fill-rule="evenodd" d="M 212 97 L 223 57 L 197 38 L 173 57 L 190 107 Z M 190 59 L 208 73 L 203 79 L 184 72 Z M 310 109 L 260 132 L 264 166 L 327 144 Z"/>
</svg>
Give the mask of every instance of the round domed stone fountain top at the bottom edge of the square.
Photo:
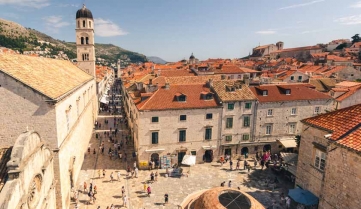
<svg viewBox="0 0 361 209">
<path fill-rule="evenodd" d="M 247 193 L 226 187 L 195 192 L 181 206 L 183 209 L 265 209 Z"/>
</svg>

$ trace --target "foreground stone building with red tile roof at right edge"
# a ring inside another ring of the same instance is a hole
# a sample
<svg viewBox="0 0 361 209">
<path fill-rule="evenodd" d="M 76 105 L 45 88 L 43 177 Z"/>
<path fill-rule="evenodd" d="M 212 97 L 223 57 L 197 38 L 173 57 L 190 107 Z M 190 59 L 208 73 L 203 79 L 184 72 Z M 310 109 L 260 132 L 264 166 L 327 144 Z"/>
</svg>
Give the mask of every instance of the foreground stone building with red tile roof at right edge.
<svg viewBox="0 0 361 209">
<path fill-rule="evenodd" d="M 296 185 L 320 209 L 360 208 L 361 105 L 302 120 Z"/>
</svg>

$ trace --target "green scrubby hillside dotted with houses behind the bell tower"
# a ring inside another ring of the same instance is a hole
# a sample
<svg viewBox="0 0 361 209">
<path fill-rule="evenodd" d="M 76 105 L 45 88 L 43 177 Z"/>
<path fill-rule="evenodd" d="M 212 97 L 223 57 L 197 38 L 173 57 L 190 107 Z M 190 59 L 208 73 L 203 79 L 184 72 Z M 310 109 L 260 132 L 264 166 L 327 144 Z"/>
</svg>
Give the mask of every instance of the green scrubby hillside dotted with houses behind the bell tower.
<svg viewBox="0 0 361 209">
<path fill-rule="evenodd" d="M 0 19 L 0 46 L 18 50 L 24 54 L 58 59 L 76 58 L 75 42 L 65 42 L 8 20 Z M 146 56 L 113 44 L 95 44 L 97 62 L 110 65 L 121 60 L 122 65 L 146 62 Z"/>
</svg>

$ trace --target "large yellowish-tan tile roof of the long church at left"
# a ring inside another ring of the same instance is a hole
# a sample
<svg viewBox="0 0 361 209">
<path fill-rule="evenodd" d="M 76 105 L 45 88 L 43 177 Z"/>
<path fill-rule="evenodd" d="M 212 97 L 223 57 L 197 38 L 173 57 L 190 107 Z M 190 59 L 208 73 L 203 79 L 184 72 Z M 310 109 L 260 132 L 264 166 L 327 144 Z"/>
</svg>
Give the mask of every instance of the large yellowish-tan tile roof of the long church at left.
<svg viewBox="0 0 361 209">
<path fill-rule="evenodd" d="M 0 54 L 0 71 L 51 99 L 93 79 L 69 61 Z"/>
</svg>

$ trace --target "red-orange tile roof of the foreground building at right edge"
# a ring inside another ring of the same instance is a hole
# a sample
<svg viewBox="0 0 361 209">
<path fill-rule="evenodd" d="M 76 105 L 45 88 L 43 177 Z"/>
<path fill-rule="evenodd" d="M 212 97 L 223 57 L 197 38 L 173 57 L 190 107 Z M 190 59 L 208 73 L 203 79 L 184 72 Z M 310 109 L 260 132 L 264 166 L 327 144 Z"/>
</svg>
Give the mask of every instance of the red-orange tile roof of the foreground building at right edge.
<svg viewBox="0 0 361 209">
<path fill-rule="evenodd" d="M 307 125 L 332 133 L 336 143 L 361 151 L 361 104 L 302 120 Z"/>
</svg>

